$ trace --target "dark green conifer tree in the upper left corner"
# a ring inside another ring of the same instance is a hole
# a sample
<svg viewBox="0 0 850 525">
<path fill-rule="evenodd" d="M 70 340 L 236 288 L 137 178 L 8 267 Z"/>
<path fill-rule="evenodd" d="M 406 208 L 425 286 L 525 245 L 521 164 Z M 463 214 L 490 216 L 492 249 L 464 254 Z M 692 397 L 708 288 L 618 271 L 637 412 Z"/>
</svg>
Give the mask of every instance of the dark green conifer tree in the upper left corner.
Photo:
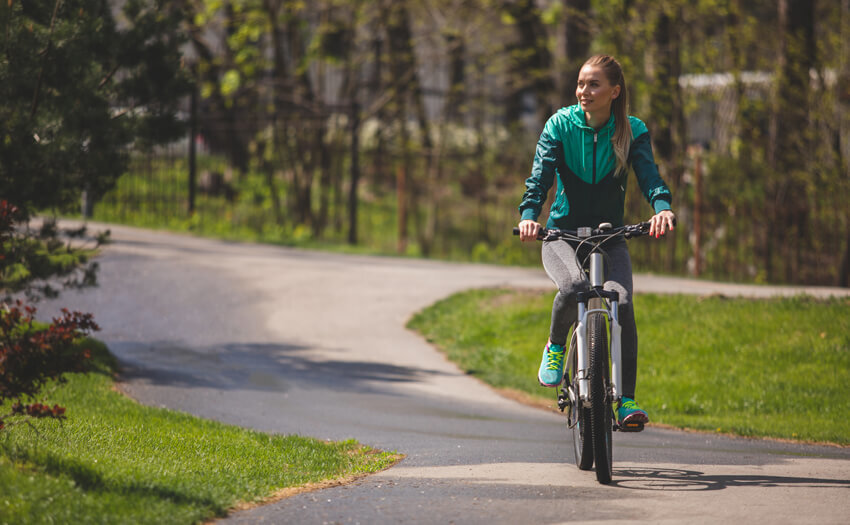
<svg viewBox="0 0 850 525">
<path fill-rule="evenodd" d="M 127 147 L 182 133 L 180 14 L 128 0 L 9 0 L 0 7 L 0 195 L 25 213 L 103 195 Z"/>
</svg>

